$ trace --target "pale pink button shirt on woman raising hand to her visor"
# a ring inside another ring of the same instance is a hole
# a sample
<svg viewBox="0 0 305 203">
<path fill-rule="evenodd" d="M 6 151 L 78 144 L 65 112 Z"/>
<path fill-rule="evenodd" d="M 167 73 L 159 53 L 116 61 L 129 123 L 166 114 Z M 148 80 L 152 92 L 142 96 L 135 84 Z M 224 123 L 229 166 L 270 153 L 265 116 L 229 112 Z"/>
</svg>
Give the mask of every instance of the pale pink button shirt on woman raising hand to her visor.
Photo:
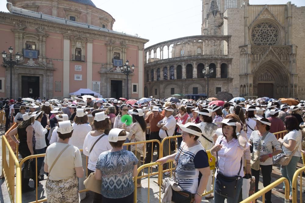
<svg viewBox="0 0 305 203">
<path fill-rule="evenodd" d="M 243 148 L 239 146 L 237 139 L 233 138 L 230 142 L 227 142 L 226 138 L 221 135 L 217 138 L 215 145 L 218 145 L 221 140 L 222 148 L 218 151 L 218 170 L 225 176 L 236 176 L 240 168 L 240 160 L 250 144 L 247 142 L 246 147 Z M 216 154 L 212 155 L 216 157 Z M 217 172 L 215 173 L 215 177 L 216 175 Z M 240 170 L 239 176 L 244 177 L 243 168 Z"/>
</svg>

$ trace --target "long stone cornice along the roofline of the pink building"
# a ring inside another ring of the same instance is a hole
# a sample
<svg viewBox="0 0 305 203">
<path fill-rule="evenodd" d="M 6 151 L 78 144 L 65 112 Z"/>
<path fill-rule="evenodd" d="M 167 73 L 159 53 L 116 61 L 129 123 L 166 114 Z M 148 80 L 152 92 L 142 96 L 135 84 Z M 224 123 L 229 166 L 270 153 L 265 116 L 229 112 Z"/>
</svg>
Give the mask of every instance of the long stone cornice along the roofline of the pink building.
<svg viewBox="0 0 305 203">
<path fill-rule="evenodd" d="M 87 29 L 81 27 L 74 27 L 66 24 L 60 24 L 41 19 L 35 19 L 26 16 L 18 16 L 10 13 L 0 12 L 1 24 L 14 25 L 17 22 L 21 24 L 26 24 L 27 27 L 31 29 L 35 29 L 38 26 L 44 26 L 45 30 L 53 33 L 59 33 L 59 34 L 71 33 L 72 35 L 72 33 L 77 32 L 79 35 L 86 38 L 97 39 L 97 40 L 108 40 L 109 38 L 111 38 L 114 41 L 124 41 L 126 44 L 131 44 L 136 46 L 143 46 L 146 42 L 149 41 L 147 39 L 143 39 L 139 37 L 131 37 L 127 35 L 120 35 L 117 33 L 92 30 L 89 28 Z"/>
</svg>

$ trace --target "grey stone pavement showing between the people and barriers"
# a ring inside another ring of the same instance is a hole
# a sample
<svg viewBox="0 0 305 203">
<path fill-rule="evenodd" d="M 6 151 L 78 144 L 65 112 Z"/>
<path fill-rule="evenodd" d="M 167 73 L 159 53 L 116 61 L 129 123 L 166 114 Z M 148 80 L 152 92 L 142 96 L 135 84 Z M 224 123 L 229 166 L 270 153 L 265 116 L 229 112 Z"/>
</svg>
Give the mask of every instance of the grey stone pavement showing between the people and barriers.
<svg viewBox="0 0 305 203">
<path fill-rule="evenodd" d="M 4 131 L 3 128 L 0 128 L 0 135 L 4 135 Z M 0 136 L 1 138 L 1 136 Z M 1 140 L 1 139 L 0 139 Z M 2 141 L 2 140 L 1 140 Z M 0 141 L 0 142 L 1 142 Z M 1 148 L 1 144 L 0 144 L 0 148 Z M 2 150 L 0 149 L 0 156 L 2 159 Z M 154 157 L 155 158 L 155 157 Z M 2 162 L 1 162 L 2 163 Z M 298 164 L 298 169 L 303 166 L 302 164 L 302 160 L 300 160 L 300 163 Z M 1 165 L 0 165 L 0 169 L 2 171 Z M 152 169 L 153 172 L 156 172 L 157 170 L 155 168 Z M 41 169 L 41 172 L 43 172 L 43 169 Z M 145 173 L 148 173 L 148 170 L 145 169 L 144 170 Z M 163 176 L 165 177 L 165 176 Z M 278 178 L 281 177 L 281 172 L 278 166 L 273 166 L 273 170 L 272 170 L 272 174 L 271 174 L 271 182 L 277 180 Z M 46 181 L 47 176 L 45 175 L 45 180 L 41 181 L 41 184 L 38 185 L 38 199 L 43 199 L 46 197 L 45 191 L 44 191 L 44 187 L 45 187 L 45 181 Z M 260 176 L 260 180 L 262 181 L 262 177 Z M 148 197 L 149 197 L 149 202 L 150 203 L 157 203 L 159 202 L 159 186 L 154 182 L 157 181 L 157 176 L 152 176 L 149 178 L 144 178 L 142 179 L 142 187 L 138 188 L 138 193 L 137 193 L 137 202 L 138 203 L 146 203 L 148 202 Z M 9 194 L 6 188 L 6 184 L 4 179 L 0 179 L 0 185 L 1 185 L 1 190 L 0 190 L 0 203 L 5 202 L 5 203 L 9 203 Z M 149 185 L 149 187 L 148 187 Z M 30 181 L 30 186 L 34 187 L 34 181 Z M 282 185 L 279 185 L 276 188 L 280 188 L 282 187 Z M 148 189 L 149 188 L 149 189 Z M 263 188 L 263 184 L 260 182 L 259 184 L 259 189 Z M 161 189 L 162 190 L 162 189 Z M 305 178 L 303 177 L 303 189 L 302 191 L 305 190 Z M 300 191 L 300 189 L 299 189 Z M 305 202 L 305 194 L 303 194 L 303 202 Z M 161 195 L 162 197 L 162 195 Z M 30 201 L 35 201 L 35 191 L 32 192 L 28 192 L 28 193 L 24 193 L 22 194 L 22 202 L 30 202 Z M 81 203 L 87 203 L 87 202 L 92 202 L 92 198 L 93 198 L 93 193 L 92 192 L 87 192 L 87 197 L 80 201 Z M 205 198 L 203 198 L 202 202 L 214 202 L 213 199 L 210 200 L 206 200 Z M 261 198 L 258 199 L 258 202 L 262 202 Z M 284 195 L 281 193 L 278 193 L 277 191 L 275 191 L 274 189 L 272 190 L 272 202 L 274 203 L 281 203 L 284 202 Z M 300 202 L 300 192 L 298 192 L 298 202 Z"/>
</svg>

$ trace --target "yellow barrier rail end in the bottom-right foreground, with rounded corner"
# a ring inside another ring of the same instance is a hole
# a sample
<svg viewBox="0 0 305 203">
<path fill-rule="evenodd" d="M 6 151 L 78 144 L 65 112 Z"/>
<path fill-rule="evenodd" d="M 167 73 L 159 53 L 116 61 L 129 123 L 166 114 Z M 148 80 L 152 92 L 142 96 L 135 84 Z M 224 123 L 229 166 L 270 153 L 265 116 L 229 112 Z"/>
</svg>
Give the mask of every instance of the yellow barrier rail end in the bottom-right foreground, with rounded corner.
<svg viewBox="0 0 305 203">
<path fill-rule="evenodd" d="M 265 202 L 265 194 L 268 191 L 272 190 L 272 188 L 274 188 L 274 187 L 278 186 L 279 184 L 281 184 L 282 182 L 284 182 L 284 184 L 285 184 L 285 203 L 288 203 L 289 202 L 289 182 L 284 177 L 274 181 L 270 185 L 264 187 L 263 189 L 261 189 L 260 191 L 258 191 L 256 193 L 254 193 L 253 195 L 251 195 L 250 197 L 248 197 L 245 200 L 241 201 L 240 203 L 249 203 L 251 201 L 255 202 L 255 200 L 257 198 L 259 198 L 260 196 L 263 196 L 263 201 L 262 202 Z"/>
</svg>

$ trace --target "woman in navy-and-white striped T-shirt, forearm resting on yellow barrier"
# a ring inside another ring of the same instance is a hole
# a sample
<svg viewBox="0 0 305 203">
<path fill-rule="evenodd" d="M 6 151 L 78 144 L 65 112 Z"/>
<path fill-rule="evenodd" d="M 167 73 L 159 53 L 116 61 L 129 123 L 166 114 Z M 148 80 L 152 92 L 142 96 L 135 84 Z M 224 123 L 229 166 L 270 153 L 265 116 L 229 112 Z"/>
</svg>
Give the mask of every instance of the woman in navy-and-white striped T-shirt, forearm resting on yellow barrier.
<svg viewBox="0 0 305 203">
<path fill-rule="evenodd" d="M 173 195 L 169 200 L 183 203 L 190 202 L 191 198 L 195 198 L 195 202 L 201 202 L 202 194 L 206 189 L 208 174 L 210 174 L 206 150 L 198 141 L 201 130 L 194 123 L 185 125 L 179 123 L 178 125 L 182 129 L 183 138 L 178 152 L 158 159 L 157 162 L 163 164 L 171 160 L 176 161 L 175 176 L 178 180 L 178 186 L 182 188 L 181 192 L 192 194 L 186 200 L 185 196 L 173 190 Z"/>
</svg>

